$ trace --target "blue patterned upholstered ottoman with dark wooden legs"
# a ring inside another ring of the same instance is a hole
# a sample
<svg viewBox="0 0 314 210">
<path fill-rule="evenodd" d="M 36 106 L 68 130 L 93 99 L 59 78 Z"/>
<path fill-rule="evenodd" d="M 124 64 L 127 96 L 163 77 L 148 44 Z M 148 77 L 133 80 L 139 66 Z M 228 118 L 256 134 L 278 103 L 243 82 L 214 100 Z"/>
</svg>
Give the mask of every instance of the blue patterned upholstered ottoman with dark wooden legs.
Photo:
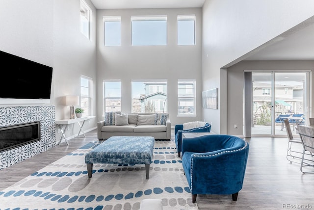
<svg viewBox="0 0 314 210">
<path fill-rule="evenodd" d="M 112 136 L 85 155 L 88 178 L 93 163 L 145 164 L 146 179 L 153 158 L 155 138 L 151 136 Z"/>
</svg>

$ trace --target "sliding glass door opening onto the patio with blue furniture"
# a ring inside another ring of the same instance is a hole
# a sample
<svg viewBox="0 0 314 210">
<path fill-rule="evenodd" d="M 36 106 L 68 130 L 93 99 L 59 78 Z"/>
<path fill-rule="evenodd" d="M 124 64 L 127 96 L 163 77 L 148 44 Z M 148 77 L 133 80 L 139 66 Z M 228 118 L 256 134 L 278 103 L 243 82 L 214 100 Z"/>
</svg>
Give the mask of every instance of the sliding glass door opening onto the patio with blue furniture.
<svg viewBox="0 0 314 210">
<path fill-rule="evenodd" d="M 252 136 L 287 135 L 287 118 L 297 134 L 306 119 L 306 80 L 306 72 L 252 72 Z"/>
</svg>

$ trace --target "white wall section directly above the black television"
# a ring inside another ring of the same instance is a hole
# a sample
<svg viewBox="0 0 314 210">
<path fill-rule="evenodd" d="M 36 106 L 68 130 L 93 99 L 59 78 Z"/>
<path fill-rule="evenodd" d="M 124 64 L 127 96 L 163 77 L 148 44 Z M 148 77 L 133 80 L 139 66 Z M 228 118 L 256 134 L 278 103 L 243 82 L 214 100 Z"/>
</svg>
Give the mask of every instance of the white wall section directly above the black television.
<svg viewBox="0 0 314 210">
<path fill-rule="evenodd" d="M 53 66 L 53 1 L 0 0 L 0 50 Z"/>
</svg>

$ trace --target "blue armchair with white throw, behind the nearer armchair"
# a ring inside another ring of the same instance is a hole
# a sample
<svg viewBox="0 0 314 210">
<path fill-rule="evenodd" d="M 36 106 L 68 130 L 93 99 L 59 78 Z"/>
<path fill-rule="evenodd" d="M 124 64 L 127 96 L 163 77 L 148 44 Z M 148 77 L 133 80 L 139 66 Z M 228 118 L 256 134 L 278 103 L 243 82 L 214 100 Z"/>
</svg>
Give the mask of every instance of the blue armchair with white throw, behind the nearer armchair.
<svg viewBox="0 0 314 210">
<path fill-rule="evenodd" d="M 183 132 L 210 132 L 211 125 L 206 123 L 204 126 L 199 128 L 183 130 L 183 124 L 175 126 L 175 142 L 178 151 L 178 157 L 180 157 L 182 151 L 182 133 Z"/>
</svg>

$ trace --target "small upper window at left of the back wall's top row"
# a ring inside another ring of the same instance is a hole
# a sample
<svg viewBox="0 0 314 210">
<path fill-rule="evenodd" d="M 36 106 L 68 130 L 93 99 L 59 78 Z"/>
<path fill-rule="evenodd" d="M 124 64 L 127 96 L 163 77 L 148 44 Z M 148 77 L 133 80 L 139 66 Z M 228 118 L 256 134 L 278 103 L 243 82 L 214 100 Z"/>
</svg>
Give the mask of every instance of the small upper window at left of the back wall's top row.
<svg viewBox="0 0 314 210">
<path fill-rule="evenodd" d="M 104 17 L 104 45 L 121 46 L 121 17 Z"/>
</svg>

